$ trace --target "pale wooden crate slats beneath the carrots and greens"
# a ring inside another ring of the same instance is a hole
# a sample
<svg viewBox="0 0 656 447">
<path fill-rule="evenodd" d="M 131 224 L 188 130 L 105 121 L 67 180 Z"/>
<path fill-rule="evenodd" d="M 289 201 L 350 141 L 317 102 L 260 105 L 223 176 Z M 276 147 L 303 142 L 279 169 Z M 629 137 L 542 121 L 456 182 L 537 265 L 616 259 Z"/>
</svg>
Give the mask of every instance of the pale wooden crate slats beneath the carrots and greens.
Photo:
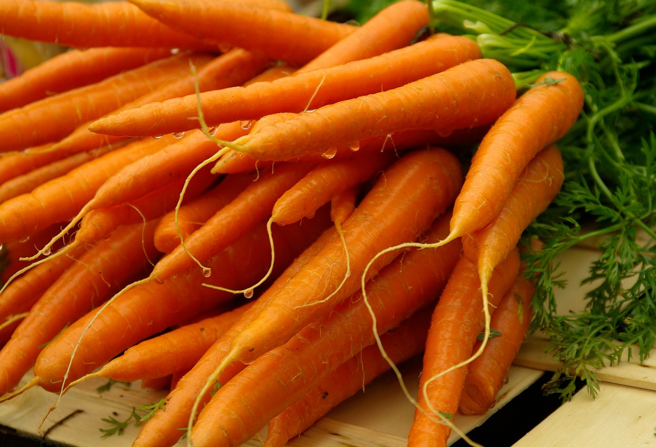
<svg viewBox="0 0 656 447">
<path fill-rule="evenodd" d="M 579 287 L 577 278 L 584 277 L 588 263 L 595 256 L 596 252 L 579 247 L 570 250 L 561 260 L 569 280 L 569 286 L 558 296 L 564 311 L 581 307 L 584 290 Z M 548 346 L 548 341 L 541 335 L 531 336 L 516 358 L 499 402 L 482 416 L 457 415 L 457 427 L 469 432 L 483 425 L 495 413 L 502 415 L 505 404 L 537 383 L 544 372 L 558 368 L 558 363 L 545 354 Z M 401 370 L 405 384 L 416 395 L 420 358 L 406 362 Z M 656 417 L 651 411 L 656 404 L 656 355 L 642 365 L 623 362 L 619 366 L 604 368 L 598 375 L 603 382 L 594 400 L 584 390 L 580 391 L 512 446 L 656 447 Z M 29 375 L 24 381 L 28 379 Z M 130 446 L 138 427 L 130 425 L 121 436 L 101 439 L 99 429 L 109 427 L 101 419 L 110 415 L 119 420 L 126 419 L 133 407 L 157 402 L 166 393 L 141 389 L 139 383 L 131 386 L 117 383 L 110 391 L 100 394 L 96 388 L 104 383 L 105 379 L 90 379 L 71 389 L 43 425 L 43 416 L 54 404 L 56 396 L 41 389 L 30 389 L 0 404 L 0 425 L 35 438 L 45 433 L 47 440 L 75 447 Z M 532 405 L 537 411 L 543 402 L 537 399 Z M 412 417 L 413 407 L 401 392 L 398 380 L 387 374 L 363 393 L 335 408 L 302 436 L 289 442 L 289 446 L 402 447 L 406 445 L 405 436 Z M 502 426 L 495 428 L 504 430 Z M 449 442 L 452 444 L 457 440 L 458 436 L 454 434 Z M 486 444 L 485 440 L 480 442 Z M 493 438 L 489 442 L 493 442 Z M 185 442 L 179 444 L 185 445 Z M 0 445 L 7 445 L 1 435 Z M 247 443 L 252 447 L 260 445 L 257 436 Z"/>
</svg>

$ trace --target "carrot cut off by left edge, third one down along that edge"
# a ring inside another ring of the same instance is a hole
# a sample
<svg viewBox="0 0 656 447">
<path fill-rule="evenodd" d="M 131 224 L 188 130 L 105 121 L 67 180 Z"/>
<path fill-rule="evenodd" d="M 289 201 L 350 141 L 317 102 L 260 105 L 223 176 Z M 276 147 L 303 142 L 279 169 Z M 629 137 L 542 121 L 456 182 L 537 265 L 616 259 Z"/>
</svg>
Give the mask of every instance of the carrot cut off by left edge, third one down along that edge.
<svg viewBox="0 0 656 447">
<path fill-rule="evenodd" d="M 176 54 L 4 112 L 0 114 L 3 152 L 59 140 L 81 123 L 115 110 L 171 77 L 188 74 L 190 62 L 201 66 L 210 58 L 209 54 Z"/>
</svg>

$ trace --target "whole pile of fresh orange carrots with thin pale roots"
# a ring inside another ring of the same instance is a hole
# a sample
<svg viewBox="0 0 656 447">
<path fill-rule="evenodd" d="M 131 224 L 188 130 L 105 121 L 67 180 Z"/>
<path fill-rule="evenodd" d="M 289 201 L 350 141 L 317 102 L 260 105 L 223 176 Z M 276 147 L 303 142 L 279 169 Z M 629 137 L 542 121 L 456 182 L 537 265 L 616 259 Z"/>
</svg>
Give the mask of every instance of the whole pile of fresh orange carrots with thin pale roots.
<svg viewBox="0 0 656 447">
<path fill-rule="evenodd" d="M 267 425 L 281 446 L 424 352 L 410 446 L 487 411 L 583 93 L 518 90 L 429 22 L 419 0 L 361 26 L 282 0 L 5 0 L 0 33 L 72 49 L 0 84 L 2 400 L 164 382 L 134 446 Z"/>
</svg>

